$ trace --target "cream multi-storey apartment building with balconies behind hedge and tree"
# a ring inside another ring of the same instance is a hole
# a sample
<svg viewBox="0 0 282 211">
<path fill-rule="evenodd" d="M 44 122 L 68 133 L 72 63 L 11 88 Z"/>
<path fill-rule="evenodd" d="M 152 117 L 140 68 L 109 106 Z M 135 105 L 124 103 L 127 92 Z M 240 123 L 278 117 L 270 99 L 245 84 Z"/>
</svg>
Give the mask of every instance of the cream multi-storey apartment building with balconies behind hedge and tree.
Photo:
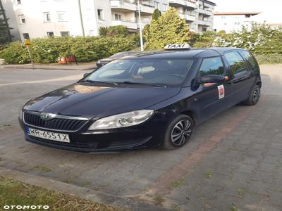
<svg viewBox="0 0 282 211">
<path fill-rule="evenodd" d="M 20 39 L 97 36 L 99 27 L 112 25 L 125 25 L 132 32 L 140 27 L 137 0 L 2 1 Z M 212 30 L 215 4 L 207 0 L 140 0 L 141 27 L 151 22 L 155 8 L 165 13 L 169 6 L 176 8 L 190 30 Z"/>
</svg>

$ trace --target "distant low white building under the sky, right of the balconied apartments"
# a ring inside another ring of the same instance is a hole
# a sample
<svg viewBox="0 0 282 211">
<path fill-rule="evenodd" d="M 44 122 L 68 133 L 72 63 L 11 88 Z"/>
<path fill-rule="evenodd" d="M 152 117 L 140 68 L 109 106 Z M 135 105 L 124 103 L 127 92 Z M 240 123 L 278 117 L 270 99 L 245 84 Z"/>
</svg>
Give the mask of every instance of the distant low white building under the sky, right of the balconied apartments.
<svg viewBox="0 0 282 211">
<path fill-rule="evenodd" d="M 214 31 L 224 30 L 230 33 L 241 30 L 243 26 L 249 28 L 255 23 L 253 17 L 258 14 L 259 12 L 214 13 Z"/>
</svg>

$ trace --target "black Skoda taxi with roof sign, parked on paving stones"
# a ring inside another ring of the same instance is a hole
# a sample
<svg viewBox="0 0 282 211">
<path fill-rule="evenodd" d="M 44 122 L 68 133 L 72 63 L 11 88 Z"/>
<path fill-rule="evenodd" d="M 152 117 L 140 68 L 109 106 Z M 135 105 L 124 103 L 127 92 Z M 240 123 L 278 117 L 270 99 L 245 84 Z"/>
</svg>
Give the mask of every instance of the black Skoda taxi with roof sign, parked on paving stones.
<svg viewBox="0 0 282 211">
<path fill-rule="evenodd" d="M 27 141 L 71 151 L 173 149 L 204 120 L 241 102 L 255 105 L 261 87 L 248 51 L 168 45 L 28 101 L 20 123 Z"/>
</svg>

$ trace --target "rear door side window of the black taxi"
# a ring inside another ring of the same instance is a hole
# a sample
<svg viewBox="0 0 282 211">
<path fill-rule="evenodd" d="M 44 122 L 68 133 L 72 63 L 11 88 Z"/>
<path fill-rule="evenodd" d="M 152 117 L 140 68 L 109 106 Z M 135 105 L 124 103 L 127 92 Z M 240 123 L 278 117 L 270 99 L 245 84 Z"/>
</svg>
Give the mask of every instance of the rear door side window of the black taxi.
<svg viewBox="0 0 282 211">
<path fill-rule="evenodd" d="M 238 51 L 231 51 L 226 53 L 225 58 L 231 68 L 231 72 L 234 75 L 247 70 L 247 65 Z"/>
</svg>

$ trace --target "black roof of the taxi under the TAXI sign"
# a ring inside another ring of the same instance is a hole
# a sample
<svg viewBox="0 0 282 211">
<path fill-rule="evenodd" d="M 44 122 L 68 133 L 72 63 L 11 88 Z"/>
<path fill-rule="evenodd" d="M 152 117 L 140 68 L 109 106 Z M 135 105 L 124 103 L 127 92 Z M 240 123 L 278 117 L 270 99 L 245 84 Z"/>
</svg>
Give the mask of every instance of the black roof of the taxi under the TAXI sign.
<svg viewBox="0 0 282 211">
<path fill-rule="evenodd" d="M 188 50 L 169 50 L 169 51 L 143 51 L 133 53 L 130 56 L 122 57 L 122 59 L 165 59 L 165 58 L 207 58 L 213 56 L 221 56 L 226 51 L 238 50 L 238 48 L 206 48 L 206 49 L 188 49 Z M 243 50 L 243 49 L 240 49 Z"/>
</svg>

